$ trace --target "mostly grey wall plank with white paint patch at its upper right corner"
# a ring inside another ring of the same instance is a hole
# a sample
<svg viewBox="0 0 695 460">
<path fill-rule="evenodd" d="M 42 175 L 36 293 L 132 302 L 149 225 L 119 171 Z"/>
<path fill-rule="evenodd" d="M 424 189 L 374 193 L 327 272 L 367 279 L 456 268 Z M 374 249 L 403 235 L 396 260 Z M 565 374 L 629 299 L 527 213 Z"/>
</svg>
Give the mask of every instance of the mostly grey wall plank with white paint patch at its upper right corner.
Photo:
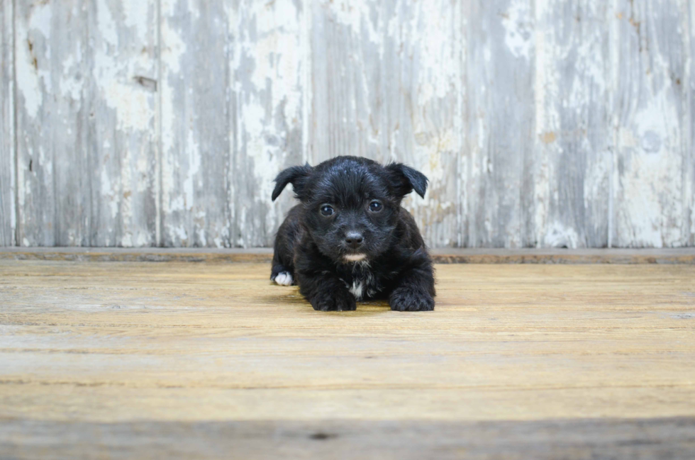
<svg viewBox="0 0 695 460">
<path fill-rule="evenodd" d="M 533 2 L 471 0 L 469 17 L 464 245 L 533 247 Z"/>
</svg>

